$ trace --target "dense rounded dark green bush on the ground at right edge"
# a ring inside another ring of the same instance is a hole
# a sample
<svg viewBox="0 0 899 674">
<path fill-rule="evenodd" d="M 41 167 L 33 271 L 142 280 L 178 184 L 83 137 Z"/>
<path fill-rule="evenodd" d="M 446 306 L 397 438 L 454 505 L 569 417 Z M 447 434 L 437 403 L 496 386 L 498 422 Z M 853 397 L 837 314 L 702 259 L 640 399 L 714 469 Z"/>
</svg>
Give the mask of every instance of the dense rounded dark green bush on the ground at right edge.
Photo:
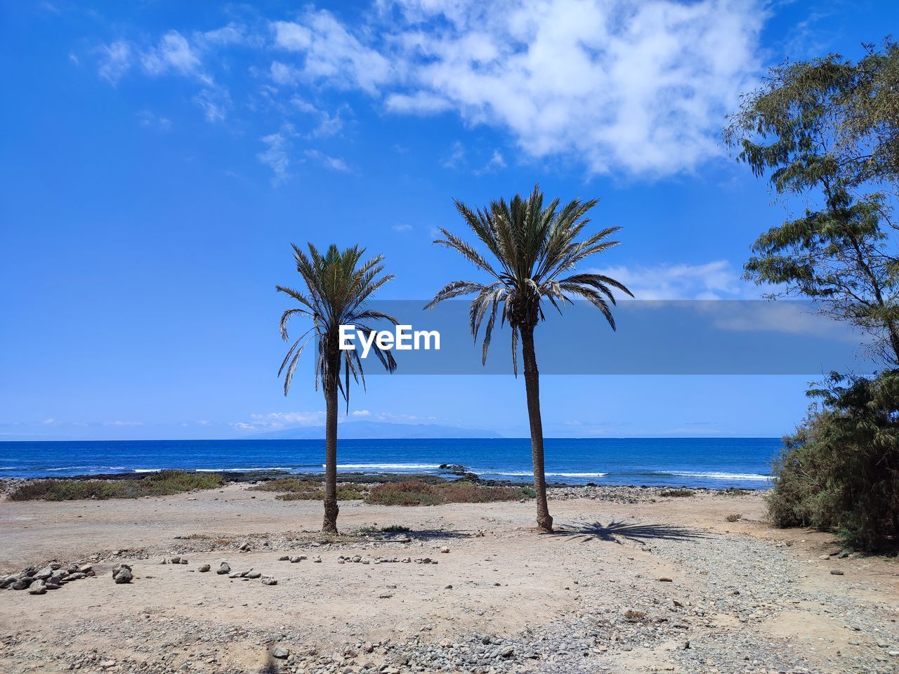
<svg viewBox="0 0 899 674">
<path fill-rule="evenodd" d="M 810 392 L 820 398 L 784 439 L 767 496 L 779 527 L 838 532 L 867 550 L 899 536 L 899 370 L 880 376 L 832 375 Z"/>
</svg>

